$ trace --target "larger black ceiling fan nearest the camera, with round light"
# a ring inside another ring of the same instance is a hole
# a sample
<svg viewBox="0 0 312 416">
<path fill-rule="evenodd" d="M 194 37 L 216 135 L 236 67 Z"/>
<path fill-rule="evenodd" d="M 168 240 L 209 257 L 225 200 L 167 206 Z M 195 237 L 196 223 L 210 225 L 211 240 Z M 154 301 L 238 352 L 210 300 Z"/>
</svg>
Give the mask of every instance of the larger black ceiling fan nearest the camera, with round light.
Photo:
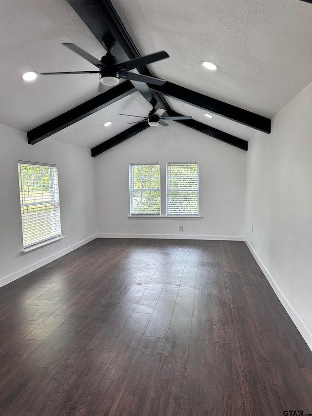
<svg viewBox="0 0 312 416">
<path fill-rule="evenodd" d="M 151 84 L 162 85 L 166 81 L 155 77 L 149 77 L 147 75 L 135 74 L 128 72 L 130 69 L 139 68 L 140 66 L 147 65 L 148 63 L 156 62 L 157 60 L 169 58 L 169 55 L 165 51 L 156 52 L 144 57 L 130 59 L 125 62 L 119 63 L 114 55 L 111 54 L 116 40 L 112 36 L 106 36 L 103 38 L 103 44 L 107 51 L 100 60 L 94 58 L 84 50 L 80 49 L 74 43 L 62 43 L 62 45 L 76 52 L 82 58 L 88 60 L 93 65 L 98 67 L 98 71 L 74 71 L 74 72 L 41 72 L 41 75 L 63 75 L 63 74 L 99 74 L 100 83 L 103 85 L 113 86 L 119 83 L 119 79 L 131 79 L 133 81 L 148 82 Z"/>
</svg>

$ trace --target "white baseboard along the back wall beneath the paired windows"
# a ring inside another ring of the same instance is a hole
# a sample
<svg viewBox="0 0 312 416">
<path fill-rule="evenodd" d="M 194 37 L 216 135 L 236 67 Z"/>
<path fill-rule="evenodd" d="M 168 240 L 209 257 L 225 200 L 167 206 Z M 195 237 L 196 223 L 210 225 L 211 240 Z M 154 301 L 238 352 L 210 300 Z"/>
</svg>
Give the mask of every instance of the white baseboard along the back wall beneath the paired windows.
<svg viewBox="0 0 312 416">
<path fill-rule="evenodd" d="M 193 234 L 97 234 L 97 238 L 164 238 L 184 240 L 245 241 L 243 236 L 204 236 Z"/>
</svg>

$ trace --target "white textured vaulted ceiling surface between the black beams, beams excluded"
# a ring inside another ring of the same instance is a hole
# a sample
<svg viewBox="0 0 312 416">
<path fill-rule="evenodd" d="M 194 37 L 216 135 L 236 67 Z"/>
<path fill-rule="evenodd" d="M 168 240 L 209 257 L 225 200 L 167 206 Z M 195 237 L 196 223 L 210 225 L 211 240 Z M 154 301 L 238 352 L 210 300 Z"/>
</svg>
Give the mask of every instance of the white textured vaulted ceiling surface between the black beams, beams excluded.
<svg viewBox="0 0 312 416">
<path fill-rule="evenodd" d="M 154 75 L 272 118 L 312 81 L 312 5 L 299 0 L 112 0 L 141 55 L 164 49 L 170 59 L 149 66 Z M 0 122 L 28 131 L 95 97 L 97 74 L 20 75 L 95 67 L 61 45 L 78 44 L 98 59 L 105 53 L 65 0 L 0 0 Z M 219 66 L 204 70 L 202 60 Z M 175 99 L 173 110 L 242 139 L 254 130 Z M 50 139 L 93 147 L 147 115 L 132 94 Z M 104 128 L 110 119 L 113 124 Z M 175 122 L 170 122 L 174 128 Z M 168 129 L 169 130 L 169 129 Z"/>
</svg>

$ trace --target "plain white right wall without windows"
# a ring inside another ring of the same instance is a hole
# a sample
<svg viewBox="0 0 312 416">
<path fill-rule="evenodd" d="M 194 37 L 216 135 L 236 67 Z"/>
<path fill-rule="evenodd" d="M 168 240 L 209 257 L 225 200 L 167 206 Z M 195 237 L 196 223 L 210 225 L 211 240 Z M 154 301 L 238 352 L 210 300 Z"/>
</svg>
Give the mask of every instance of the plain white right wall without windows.
<svg viewBox="0 0 312 416">
<path fill-rule="evenodd" d="M 249 142 L 246 238 L 312 348 L 312 84 Z"/>
</svg>

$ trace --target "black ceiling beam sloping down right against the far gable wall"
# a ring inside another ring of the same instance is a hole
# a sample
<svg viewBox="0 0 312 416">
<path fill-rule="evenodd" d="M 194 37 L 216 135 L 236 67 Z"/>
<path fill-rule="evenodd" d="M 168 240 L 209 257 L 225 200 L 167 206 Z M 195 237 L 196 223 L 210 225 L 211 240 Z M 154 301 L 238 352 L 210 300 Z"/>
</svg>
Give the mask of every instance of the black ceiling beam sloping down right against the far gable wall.
<svg viewBox="0 0 312 416">
<path fill-rule="evenodd" d="M 167 111 L 168 116 L 182 116 L 182 114 L 176 113 L 175 111 Z M 196 120 L 176 120 L 176 123 L 183 124 L 184 126 L 191 127 L 199 131 L 200 133 L 204 133 L 210 137 L 215 139 L 224 141 L 225 143 L 232 144 L 235 147 L 238 147 L 242 150 L 248 150 L 248 141 L 239 139 L 238 137 L 232 136 L 229 133 L 221 132 L 220 130 L 215 129 L 214 127 L 208 126 L 207 124 L 200 123 Z"/>
</svg>

